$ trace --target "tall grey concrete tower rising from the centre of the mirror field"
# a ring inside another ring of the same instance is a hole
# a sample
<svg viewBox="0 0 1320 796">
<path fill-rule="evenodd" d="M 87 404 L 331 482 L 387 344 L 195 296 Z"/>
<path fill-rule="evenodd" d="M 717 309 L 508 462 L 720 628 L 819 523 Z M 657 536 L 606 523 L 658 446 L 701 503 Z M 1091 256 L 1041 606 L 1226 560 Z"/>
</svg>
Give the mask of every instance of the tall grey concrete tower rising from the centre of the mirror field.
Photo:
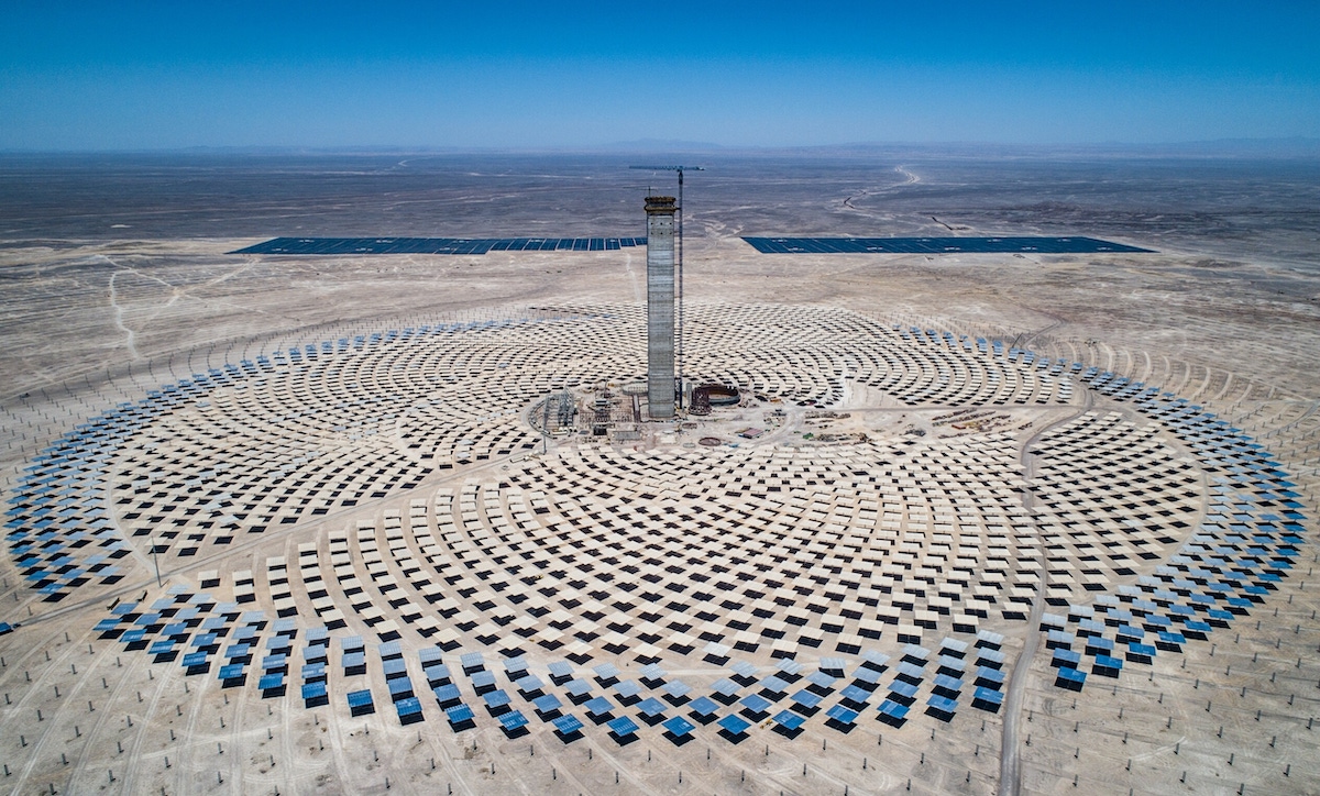
<svg viewBox="0 0 1320 796">
<path fill-rule="evenodd" d="M 673 417 L 673 197 L 647 197 L 647 412 Z"/>
</svg>

